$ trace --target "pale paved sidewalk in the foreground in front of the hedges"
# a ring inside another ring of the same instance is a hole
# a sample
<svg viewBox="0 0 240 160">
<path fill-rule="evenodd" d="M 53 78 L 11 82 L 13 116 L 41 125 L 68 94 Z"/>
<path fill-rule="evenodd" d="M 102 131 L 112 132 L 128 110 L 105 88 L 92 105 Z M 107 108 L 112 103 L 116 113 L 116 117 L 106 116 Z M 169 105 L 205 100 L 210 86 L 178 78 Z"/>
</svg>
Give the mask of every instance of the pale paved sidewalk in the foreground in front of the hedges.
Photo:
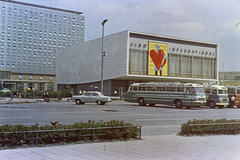
<svg viewBox="0 0 240 160">
<path fill-rule="evenodd" d="M 239 160 L 240 135 L 145 136 L 142 140 L 0 151 L 2 160 Z"/>
</svg>

